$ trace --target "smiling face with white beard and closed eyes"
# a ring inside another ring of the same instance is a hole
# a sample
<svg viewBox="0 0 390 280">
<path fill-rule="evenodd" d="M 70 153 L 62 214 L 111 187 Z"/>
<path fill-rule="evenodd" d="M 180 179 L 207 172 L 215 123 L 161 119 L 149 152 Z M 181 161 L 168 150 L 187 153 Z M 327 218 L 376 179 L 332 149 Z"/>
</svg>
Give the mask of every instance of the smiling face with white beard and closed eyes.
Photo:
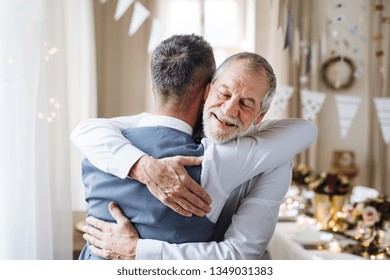
<svg viewBox="0 0 390 280">
<path fill-rule="evenodd" d="M 203 111 L 205 134 L 218 143 L 242 136 L 258 124 L 261 101 L 268 86 L 264 75 L 253 75 L 246 60 L 232 62 L 214 81 L 206 96 Z"/>
</svg>

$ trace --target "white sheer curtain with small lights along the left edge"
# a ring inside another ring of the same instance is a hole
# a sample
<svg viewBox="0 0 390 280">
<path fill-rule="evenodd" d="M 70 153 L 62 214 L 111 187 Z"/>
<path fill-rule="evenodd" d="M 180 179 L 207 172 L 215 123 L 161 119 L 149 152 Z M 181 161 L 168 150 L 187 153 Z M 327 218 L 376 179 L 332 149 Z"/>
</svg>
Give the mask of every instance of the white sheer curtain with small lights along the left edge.
<svg viewBox="0 0 390 280">
<path fill-rule="evenodd" d="M 94 114 L 93 45 L 91 1 L 0 1 L 0 259 L 72 258 L 69 134 Z"/>
</svg>

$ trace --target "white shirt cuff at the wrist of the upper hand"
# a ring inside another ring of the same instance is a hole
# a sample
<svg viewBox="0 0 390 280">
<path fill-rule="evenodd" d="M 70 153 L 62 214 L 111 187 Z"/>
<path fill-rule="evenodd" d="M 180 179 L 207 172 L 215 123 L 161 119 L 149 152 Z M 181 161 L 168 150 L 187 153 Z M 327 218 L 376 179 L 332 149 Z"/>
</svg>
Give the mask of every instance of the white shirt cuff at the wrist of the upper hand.
<svg viewBox="0 0 390 280">
<path fill-rule="evenodd" d="M 122 179 L 126 178 L 134 163 L 144 155 L 145 153 L 136 147 L 130 144 L 124 145 L 115 153 L 110 164 L 109 173 Z"/>
</svg>

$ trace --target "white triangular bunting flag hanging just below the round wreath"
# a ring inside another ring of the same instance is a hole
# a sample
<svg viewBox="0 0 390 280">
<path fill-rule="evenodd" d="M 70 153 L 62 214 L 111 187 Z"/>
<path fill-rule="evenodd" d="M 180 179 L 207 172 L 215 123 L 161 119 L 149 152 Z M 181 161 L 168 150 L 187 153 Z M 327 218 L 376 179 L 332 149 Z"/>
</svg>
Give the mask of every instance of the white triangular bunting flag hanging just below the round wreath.
<svg viewBox="0 0 390 280">
<path fill-rule="evenodd" d="M 345 96 L 337 94 L 335 99 L 337 111 L 339 113 L 340 134 L 341 138 L 344 139 L 348 134 L 348 130 L 355 118 L 362 98 L 360 96 Z"/>
</svg>

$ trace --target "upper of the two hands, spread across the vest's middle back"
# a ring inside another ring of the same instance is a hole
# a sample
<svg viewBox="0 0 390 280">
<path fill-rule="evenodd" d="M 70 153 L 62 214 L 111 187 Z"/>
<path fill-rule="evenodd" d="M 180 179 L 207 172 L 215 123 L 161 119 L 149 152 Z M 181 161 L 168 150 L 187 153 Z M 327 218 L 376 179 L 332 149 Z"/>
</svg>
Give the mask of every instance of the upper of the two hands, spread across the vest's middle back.
<svg viewBox="0 0 390 280">
<path fill-rule="evenodd" d="M 211 198 L 184 168 L 200 165 L 202 160 L 202 157 L 185 156 L 155 159 L 145 155 L 134 164 L 129 176 L 144 183 L 173 211 L 187 217 L 192 214 L 202 217 L 211 210 Z"/>
</svg>

